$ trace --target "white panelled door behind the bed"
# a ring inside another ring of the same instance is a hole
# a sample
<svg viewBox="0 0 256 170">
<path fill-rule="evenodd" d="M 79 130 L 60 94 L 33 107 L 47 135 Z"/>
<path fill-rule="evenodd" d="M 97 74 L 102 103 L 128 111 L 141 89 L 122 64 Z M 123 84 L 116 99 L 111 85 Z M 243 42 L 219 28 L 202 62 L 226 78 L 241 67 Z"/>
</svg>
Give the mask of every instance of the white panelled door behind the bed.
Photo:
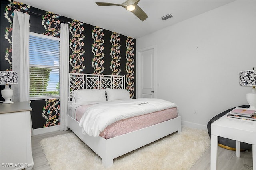
<svg viewBox="0 0 256 170">
<path fill-rule="evenodd" d="M 139 90 L 141 98 L 154 98 L 154 48 L 139 51 Z"/>
</svg>

